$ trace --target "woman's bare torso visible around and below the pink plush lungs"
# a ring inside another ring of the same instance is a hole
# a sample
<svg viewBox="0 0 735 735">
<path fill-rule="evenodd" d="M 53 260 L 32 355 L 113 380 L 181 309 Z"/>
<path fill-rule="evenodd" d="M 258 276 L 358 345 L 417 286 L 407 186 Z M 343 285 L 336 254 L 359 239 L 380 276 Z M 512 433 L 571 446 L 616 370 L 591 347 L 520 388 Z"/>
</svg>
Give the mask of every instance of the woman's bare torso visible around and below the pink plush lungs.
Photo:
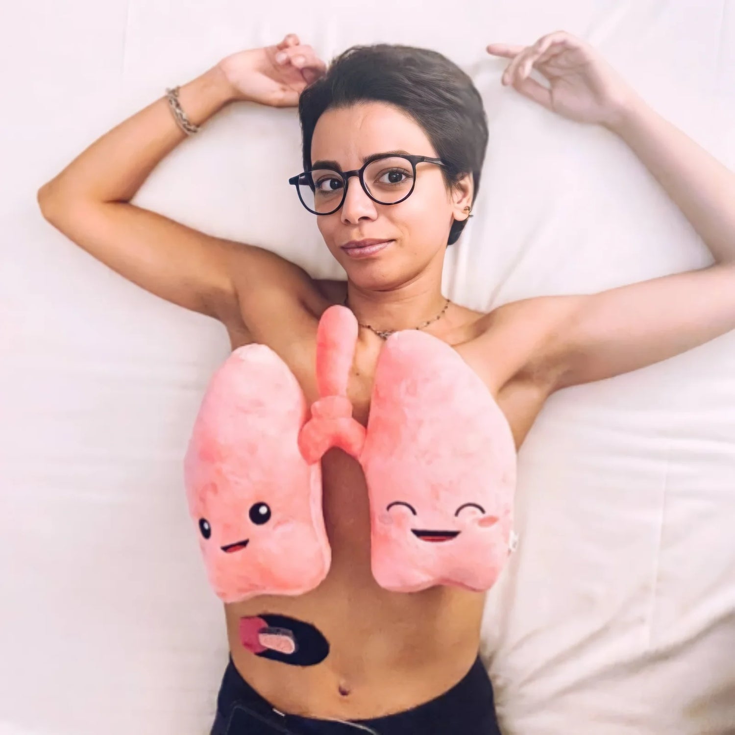
<svg viewBox="0 0 735 735">
<path fill-rule="evenodd" d="M 254 341 L 268 344 L 289 365 L 307 401 L 318 398 L 315 350 L 318 319 L 340 303 L 344 284 L 321 282 L 314 298 L 293 318 L 265 334 L 229 329 L 232 348 Z M 511 372 L 498 351 L 488 359 L 487 315 L 452 306 L 444 334 L 487 384 L 520 446 L 545 392 L 532 382 L 506 381 Z M 492 329 L 492 326 L 490 326 Z M 485 340 L 487 345 L 487 340 Z M 382 341 L 361 330 L 348 395 L 354 416 L 368 420 L 370 392 Z M 331 545 L 329 575 L 297 598 L 261 596 L 226 605 L 229 645 L 235 666 L 273 706 L 310 717 L 367 719 L 409 709 L 450 689 L 470 669 L 479 645 L 484 595 L 452 587 L 413 594 L 388 592 L 370 573 L 368 492 L 356 460 L 339 449 L 323 458 L 323 512 Z M 316 666 L 294 666 L 254 656 L 240 642 L 241 617 L 283 614 L 315 625 L 329 641 L 329 656 Z"/>
</svg>

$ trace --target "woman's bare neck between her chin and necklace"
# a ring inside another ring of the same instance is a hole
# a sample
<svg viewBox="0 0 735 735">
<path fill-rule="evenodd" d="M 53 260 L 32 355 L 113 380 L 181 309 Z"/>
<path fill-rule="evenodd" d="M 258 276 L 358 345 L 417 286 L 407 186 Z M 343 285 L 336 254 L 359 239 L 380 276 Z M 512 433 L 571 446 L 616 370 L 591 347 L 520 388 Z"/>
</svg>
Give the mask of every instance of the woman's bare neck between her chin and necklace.
<svg viewBox="0 0 735 735">
<path fill-rule="evenodd" d="M 440 314 L 446 303 L 439 284 L 428 287 L 415 283 L 391 291 L 370 291 L 347 283 L 348 306 L 359 323 L 377 330 L 415 329 Z"/>
</svg>

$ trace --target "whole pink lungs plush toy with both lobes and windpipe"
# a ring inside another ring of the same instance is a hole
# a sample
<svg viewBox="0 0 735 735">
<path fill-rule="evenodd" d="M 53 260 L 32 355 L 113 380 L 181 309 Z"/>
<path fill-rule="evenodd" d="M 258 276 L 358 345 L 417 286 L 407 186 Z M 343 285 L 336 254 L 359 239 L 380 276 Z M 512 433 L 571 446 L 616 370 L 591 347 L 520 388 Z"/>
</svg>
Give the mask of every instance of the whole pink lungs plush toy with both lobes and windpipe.
<svg viewBox="0 0 735 735">
<path fill-rule="evenodd" d="M 185 480 L 210 581 L 226 602 L 298 595 L 326 576 L 320 459 L 331 447 L 365 473 L 382 587 L 480 591 L 506 561 L 516 452 L 487 387 L 442 340 L 396 332 L 379 356 L 364 429 L 347 397 L 357 329 L 344 306 L 324 312 L 311 417 L 293 373 L 264 345 L 235 350 L 209 384 Z"/>
</svg>

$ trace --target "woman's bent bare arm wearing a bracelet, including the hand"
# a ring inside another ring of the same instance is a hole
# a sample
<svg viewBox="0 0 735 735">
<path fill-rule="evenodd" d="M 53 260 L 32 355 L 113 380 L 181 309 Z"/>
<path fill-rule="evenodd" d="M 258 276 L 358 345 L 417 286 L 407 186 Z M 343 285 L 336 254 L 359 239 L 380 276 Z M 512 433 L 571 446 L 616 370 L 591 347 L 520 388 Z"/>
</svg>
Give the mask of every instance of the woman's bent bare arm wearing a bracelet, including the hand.
<svg viewBox="0 0 735 735">
<path fill-rule="evenodd" d="M 179 101 L 190 121 L 201 125 L 233 101 L 278 107 L 297 103 L 306 81 L 297 68 L 273 62 L 279 50 L 310 52 L 308 46 L 298 46 L 298 38 L 287 37 L 279 46 L 233 54 L 183 85 Z M 318 60 L 309 63 L 312 70 L 318 68 Z M 240 301 L 256 304 L 256 298 L 247 297 L 259 288 L 298 294 L 298 285 L 308 283 L 308 276 L 276 254 L 212 237 L 130 203 L 156 165 L 185 137 L 168 101 L 158 99 L 96 140 L 40 188 L 43 216 L 126 279 L 221 320 L 240 315 Z"/>
</svg>

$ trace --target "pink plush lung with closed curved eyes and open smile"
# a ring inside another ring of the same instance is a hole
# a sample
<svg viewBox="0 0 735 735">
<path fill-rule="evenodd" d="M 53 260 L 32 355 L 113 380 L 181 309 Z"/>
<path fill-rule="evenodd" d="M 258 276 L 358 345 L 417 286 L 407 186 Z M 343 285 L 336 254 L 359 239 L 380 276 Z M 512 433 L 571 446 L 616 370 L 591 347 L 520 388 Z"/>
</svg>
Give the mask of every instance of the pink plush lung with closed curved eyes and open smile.
<svg viewBox="0 0 735 735">
<path fill-rule="evenodd" d="M 487 386 L 426 332 L 388 337 L 365 445 L 378 584 L 489 589 L 509 554 L 516 452 Z"/>
</svg>

